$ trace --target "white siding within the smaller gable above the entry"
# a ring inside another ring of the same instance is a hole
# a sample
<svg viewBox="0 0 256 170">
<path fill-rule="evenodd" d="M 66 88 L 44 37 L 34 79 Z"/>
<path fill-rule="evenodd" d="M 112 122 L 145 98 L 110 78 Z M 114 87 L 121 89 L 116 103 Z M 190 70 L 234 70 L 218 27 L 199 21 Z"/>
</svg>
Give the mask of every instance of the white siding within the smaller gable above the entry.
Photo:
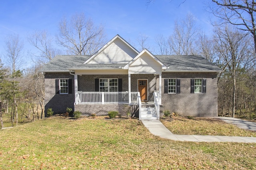
<svg viewBox="0 0 256 170">
<path fill-rule="evenodd" d="M 147 53 L 142 54 L 129 66 L 129 74 L 160 74 L 162 66 Z"/>
</svg>

